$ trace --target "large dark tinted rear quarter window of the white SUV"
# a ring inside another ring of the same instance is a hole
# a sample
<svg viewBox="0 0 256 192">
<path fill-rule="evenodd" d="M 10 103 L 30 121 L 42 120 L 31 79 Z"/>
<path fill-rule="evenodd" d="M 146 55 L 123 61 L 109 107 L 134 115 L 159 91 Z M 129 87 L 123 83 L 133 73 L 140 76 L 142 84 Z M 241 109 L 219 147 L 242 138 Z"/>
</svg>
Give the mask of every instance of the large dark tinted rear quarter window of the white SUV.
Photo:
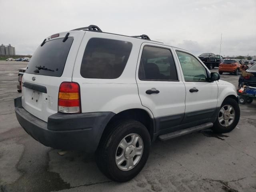
<svg viewBox="0 0 256 192">
<path fill-rule="evenodd" d="M 131 42 L 91 38 L 84 51 L 80 74 L 84 78 L 118 78 L 126 66 L 131 50 Z"/>
</svg>

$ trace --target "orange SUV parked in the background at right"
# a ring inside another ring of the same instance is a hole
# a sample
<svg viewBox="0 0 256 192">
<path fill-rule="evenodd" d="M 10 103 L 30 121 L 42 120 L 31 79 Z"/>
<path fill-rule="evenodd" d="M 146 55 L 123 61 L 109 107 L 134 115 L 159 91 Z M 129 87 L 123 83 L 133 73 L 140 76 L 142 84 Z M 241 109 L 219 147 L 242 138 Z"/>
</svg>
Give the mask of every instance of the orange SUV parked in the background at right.
<svg viewBox="0 0 256 192">
<path fill-rule="evenodd" d="M 219 74 L 223 72 L 234 73 L 234 75 L 238 75 L 242 70 L 242 65 L 238 60 L 224 60 L 220 63 L 219 66 Z"/>
</svg>

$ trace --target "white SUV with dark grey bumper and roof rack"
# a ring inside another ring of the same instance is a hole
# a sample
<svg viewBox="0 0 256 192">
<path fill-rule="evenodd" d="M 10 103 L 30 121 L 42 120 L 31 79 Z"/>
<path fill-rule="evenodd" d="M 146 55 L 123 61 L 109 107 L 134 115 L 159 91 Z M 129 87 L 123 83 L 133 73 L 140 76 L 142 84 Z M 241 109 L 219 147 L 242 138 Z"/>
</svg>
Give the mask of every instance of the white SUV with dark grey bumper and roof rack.
<svg viewBox="0 0 256 192">
<path fill-rule="evenodd" d="M 151 143 L 238 124 L 236 88 L 187 50 L 97 26 L 47 37 L 15 99 L 20 125 L 45 146 L 96 152 L 100 170 L 124 182 Z"/>
</svg>

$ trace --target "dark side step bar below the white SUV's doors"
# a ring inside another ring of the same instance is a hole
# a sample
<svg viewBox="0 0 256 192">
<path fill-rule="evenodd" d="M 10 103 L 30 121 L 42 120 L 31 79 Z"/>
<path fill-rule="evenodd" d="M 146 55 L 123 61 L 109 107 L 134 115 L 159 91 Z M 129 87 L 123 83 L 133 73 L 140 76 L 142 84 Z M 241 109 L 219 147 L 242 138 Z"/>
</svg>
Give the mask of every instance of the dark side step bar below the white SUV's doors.
<svg viewBox="0 0 256 192">
<path fill-rule="evenodd" d="M 161 141 L 166 141 L 168 139 L 172 139 L 172 138 L 175 138 L 175 137 L 178 137 L 178 136 L 182 136 L 182 135 L 185 135 L 185 134 L 188 134 L 188 133 L 200 131 L 202 129 L 207 129 L 207 128 L 210 128 L 212 126 L 213 126 L 212 122 L 204 123 L 204 124 L 201 124 L 201 125 L 198 125 L 198 126 L 194 126 L 194 127 L 190 127 L 190 128 L 187 128 L 187 129 L 182 129 L 182 130 L 174 131 L 174 132 L 167 133 L 167 134 L 164 134 L 164 135 L 160 135 L 160 136 L 158 136 L 158 138 Z"/>
</svg>

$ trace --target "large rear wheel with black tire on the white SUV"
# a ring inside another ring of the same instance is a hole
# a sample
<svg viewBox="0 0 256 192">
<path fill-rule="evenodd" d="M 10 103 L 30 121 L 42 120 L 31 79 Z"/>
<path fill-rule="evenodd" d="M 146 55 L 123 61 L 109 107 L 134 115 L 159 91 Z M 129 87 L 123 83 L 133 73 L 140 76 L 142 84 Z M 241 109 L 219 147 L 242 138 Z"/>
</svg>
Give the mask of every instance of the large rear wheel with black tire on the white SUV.
<svg viewBox="0 0 256 192">
<path fill-rule="evenodd" d="M 98 168 L 106 175 L 109 179 L 117 182 L 126 182 L 134 178 L 144 167 L 150 153 L 151 139 L 147 128 L 136 120 L 125 120 L 113 124 L 108 127 L 110 131 L 102 135 L 102 140 L 96 151 L 96 162 Z M 132 136 L 139 136 L 138 142 L 135 145 L 129 144 L 130 141 L 126 139 L 132 138 Z M 122 149 L 120 147 L 121 141 L 126 140 L 126 144 L 129 146 Z M 142 155 L 136 156 L 134 154 L 134 147 L 142 146 Z M 131 149 L 130 149 L 131 148 Z M 127 150 L 127 152 L 125 152 Z M 130 150 L 130 151 L 129 151 Z M 134 157 L 126 157 L 135 155 Z M 124 161 L 118 166 L 116 163 L 116 156 L 123 156 Z M 132 159 L 132 166 L 128 166 L 128 160 Z M 138 161 L 136 162 L 136 160 Z M 127 170 L 122 170 L 122 169 Z M 128 167 L 128 168 L 127 168 Z M 132 167 L 132 168 L 130 168 Z"/>
</svg>

